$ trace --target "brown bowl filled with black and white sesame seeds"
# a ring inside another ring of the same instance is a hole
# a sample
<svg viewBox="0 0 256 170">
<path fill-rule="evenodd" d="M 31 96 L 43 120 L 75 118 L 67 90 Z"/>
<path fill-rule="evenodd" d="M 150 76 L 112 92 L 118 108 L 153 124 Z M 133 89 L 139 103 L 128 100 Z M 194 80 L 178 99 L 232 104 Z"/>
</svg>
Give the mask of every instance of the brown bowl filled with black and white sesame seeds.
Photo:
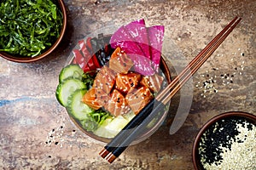
<svg viewBox="0 0 256 170">
<path fill-rule="evenodd" d="M 195 169 L 255 169 L 256 116 L 230 111 L 214 116 L 195 137 Z"/>
</svg>

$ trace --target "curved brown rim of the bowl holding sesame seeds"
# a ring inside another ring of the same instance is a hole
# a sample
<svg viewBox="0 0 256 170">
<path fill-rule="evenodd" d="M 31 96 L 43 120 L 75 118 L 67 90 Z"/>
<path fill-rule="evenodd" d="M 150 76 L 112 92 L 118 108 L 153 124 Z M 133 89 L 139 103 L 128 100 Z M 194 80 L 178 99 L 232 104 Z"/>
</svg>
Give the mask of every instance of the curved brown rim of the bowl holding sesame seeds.
<svg viewBox="0 0 256 170">
<path fill-rule="evenodd" d="M 213 116 L 209 121 L 207 121 L 200 129 L 200 131 L 196 134 L 195 140 L 193 143 L 193 148 L 192 148 L 192 161 L 193 161 L 193 166 L 195 170 L 200 170 L 201 169 L 201 164 L 200 160 L 198 158 L 198 145 L 199 141 L 201 139 L 201 135 L 205 133 L 207 130 L 207 127 L 210 127 L 214 122 L 217 122 L 219 120 L 222 120 L 227 117 L 232 117 L 232 116 L 240 116 L 244 117 L 247 120 L 250 120 L 250 122 L 255 122 L 256 123 L 256 115 L 253 115 L 252 113 L 247 113 L 243 111 L 228 111 L 221 113 L 217 116 Z"/>
</svg>

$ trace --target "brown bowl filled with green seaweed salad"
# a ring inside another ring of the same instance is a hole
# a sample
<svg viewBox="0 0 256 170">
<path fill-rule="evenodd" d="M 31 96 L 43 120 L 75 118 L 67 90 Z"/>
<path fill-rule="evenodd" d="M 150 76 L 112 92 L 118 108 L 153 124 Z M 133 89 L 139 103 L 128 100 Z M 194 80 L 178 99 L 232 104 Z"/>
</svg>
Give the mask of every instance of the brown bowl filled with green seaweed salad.
<svg viewBox="0 0 256 170">
<path fill-rule="evenodd" d="M 57 48 L 67 27 L 62 0 L 3 1 L 1 4 L 1 57 L 28 63 L 43 59 Z"/>
</svg>

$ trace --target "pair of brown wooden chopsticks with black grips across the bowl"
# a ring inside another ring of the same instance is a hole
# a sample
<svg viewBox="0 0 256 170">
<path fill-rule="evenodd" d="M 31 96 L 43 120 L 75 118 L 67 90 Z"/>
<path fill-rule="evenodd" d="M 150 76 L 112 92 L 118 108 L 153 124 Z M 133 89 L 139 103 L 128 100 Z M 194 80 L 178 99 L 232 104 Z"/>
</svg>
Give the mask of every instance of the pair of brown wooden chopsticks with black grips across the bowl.
<svg viewBox="0 0 256 170">
<path fill-rule="evenodd" d="M 172 99 L 173 95 L 177 94 L 178 90 L 183 87 L 183 84 L 206 62 L 240 21 L 241 18 L 238 19 L 238 17 L 236 17 L 229 25 L 225 26 L 224 29 L 207 44 L 207 47 L 201 50 L 201 53 L 104 147 L 99 155 L 105 158 L 109 163 L 112 163 L 139 134 L 143 133 L 148 123 L 152 121 L 159 111 L 165 108 L 165 105 Z"/>
</svg>

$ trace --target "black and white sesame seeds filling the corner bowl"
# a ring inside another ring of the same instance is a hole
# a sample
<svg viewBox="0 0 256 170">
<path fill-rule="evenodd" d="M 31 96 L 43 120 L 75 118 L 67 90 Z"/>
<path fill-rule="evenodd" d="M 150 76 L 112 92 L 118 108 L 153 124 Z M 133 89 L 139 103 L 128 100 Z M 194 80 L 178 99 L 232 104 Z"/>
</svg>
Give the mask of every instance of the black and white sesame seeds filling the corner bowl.
<svg viewBox="0 0 256 170">
<path fill-rule="evenodd" d="M 255 133 L 256 126 L 245 118 L 216 122 L 201 137 L 201 164 L 205 169 L 255 169 Z"/>
</svg>

